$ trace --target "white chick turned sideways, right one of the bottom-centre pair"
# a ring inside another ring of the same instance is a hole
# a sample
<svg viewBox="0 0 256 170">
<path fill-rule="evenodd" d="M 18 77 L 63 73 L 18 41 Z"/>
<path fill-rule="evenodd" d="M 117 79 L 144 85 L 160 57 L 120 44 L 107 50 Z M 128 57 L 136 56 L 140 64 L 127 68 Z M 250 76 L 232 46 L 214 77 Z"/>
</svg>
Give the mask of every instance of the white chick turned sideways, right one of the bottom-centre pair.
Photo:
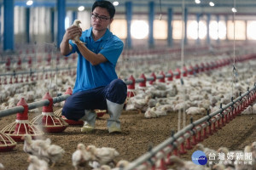
<svg viewBox="0 0 256 170">
<path fill-rule="evenodd" d="M 87 146 L 86 150 L 90 152 L 92 160 L 97 161 L 100 166 L 109 165 L 110 163 L 115 165 L 113 159 L 119 156 L 119 152 L 117 150 L 109 147 L 96 148 L 95 145 L 91 144 Z"/>
</svg>

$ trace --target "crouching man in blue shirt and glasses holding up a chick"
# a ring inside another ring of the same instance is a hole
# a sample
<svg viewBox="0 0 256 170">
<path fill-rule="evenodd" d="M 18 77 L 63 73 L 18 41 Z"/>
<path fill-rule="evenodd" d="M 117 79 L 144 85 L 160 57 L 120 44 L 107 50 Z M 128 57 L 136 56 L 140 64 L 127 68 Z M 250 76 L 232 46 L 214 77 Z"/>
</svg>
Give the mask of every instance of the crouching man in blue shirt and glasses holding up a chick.
<svg viewBox="0 0 256 170">
<path fill-rule="evenodd" d="M 119 116 L 125 103 L 127 87 L 115 72 L 124 43 L 108 30 L 114 14 L 112 3 L 96 1 L 91 9 L 90 29 L 82 31 L 79 26 L 70 26 L 60 45 L 61 54 L 79 55 L 73 94 L 67 98 L 62 115 L 75 121 L 83 120 L 82 132 L 95 129 L 94 110 L 108 110 L 109 133 L 121 131 Z M 73 41 L 77 36 L 80 42 Z"/>
</svg>

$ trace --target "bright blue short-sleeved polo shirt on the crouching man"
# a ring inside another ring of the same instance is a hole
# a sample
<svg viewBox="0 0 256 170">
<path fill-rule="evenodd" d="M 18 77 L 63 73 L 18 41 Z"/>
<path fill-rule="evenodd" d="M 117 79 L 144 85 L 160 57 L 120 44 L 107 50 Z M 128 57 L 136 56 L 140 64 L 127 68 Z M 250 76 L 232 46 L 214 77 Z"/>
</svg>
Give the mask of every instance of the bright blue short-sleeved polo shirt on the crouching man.
<svg viewBox="0 0 256 170">
<path fill-rule="evenodd" d="M 103 37 L 94 41 L 92 37 L 92 27 L 90 27 L 90 29 L 83 31 L 80 40 L 85 42 L 85 46 L 90 49 L 90 51 L 95 54 L 102 54 L 108 61 L 99 65 L 91 65 L 90 62 L 84 59 L 83 55 L 80 54 L 79 48 L 70 40 L 69 43 L 73 47 L 71 54 L 75 52 L 79 54 L 77 78 L 73 88 L 73 94 L 106 86 L 114 79 L 118 78 L 115 72 L 115 66 L 124 48 L 124 43 L 119 37 L 114 36 L 108 29 Z"/>
</svg>

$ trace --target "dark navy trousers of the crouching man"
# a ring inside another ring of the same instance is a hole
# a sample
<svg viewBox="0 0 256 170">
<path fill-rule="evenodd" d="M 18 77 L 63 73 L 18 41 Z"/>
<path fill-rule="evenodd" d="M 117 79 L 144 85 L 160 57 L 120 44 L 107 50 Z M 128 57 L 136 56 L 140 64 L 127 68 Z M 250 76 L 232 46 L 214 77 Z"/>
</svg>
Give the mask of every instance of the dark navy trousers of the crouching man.
<svg viewBox="0 0 256 170">
<path fill-rule="evenodd" d="M 107 101 L 116 104 L 125 103 L 127 86 L 120 79 L 115 79 L 108 86 L 77 92 L 69 96 L 62 109 L 67 119 L 78 121 L 84 116 L 84 110 L 107 110 Z"/>
</svg>

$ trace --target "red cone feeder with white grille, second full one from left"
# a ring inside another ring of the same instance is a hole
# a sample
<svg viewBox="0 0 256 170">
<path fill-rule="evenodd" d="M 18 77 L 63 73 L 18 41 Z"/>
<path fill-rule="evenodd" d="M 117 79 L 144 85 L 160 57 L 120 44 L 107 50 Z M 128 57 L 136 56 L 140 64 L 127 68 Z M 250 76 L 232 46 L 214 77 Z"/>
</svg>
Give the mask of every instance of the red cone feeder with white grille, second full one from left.
<svg viewBox="0 0 256 170">
<path fill-rule="evenodd" d="M 32 119 L 31 123 L 41 127 L 46 133 L 61 133 L 68 124 L 61 117 L 55 116 L 53 112 L 53 99 L 49 93 L 44 95 L 43 99 L 49 100 L 48 106 L 43 106 L 42 114 Z"/>
</svg>

